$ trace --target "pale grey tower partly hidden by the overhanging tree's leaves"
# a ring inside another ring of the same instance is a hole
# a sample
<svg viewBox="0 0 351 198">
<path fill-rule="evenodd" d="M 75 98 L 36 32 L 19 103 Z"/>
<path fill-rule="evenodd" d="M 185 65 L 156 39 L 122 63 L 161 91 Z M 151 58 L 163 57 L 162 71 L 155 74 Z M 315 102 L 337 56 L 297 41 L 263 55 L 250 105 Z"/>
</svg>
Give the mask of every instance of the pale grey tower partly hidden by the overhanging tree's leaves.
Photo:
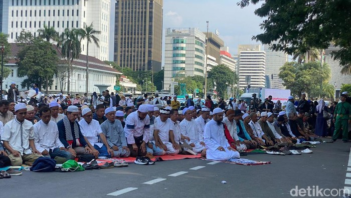
<svg viewBox="0 0 351 198">
<path fill-rule="evenodd" d="M 266 53 L 266 75 L 269 77 L 270 88 L 284 89 L 284 81 L 278 77 L 278 74 L 280 72 L 279 69 L 288 61 L 288 55 L 282 51 L 272 51 L 269 48 L 269 45 L 264 46 Z"/>
</svg>

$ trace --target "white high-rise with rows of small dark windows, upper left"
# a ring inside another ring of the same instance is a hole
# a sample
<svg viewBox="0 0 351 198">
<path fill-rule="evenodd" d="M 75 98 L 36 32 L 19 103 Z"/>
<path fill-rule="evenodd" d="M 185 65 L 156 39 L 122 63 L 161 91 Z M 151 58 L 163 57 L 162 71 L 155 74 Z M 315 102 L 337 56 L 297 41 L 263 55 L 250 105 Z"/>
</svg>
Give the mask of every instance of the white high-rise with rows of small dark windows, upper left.
<svg viewBox="0 0 351 198">
<path fill-rule="evenodd" d="M 3 1 L 1 1 L 3 2 Z M 6 3 L 7 2 L 7 5 Z M 110 31 L 109 0 L 9 0 L 4 2 L 3 32 L 14 43 L 21 31 L 31 32 L 35 37 L 44 26 L 54 27 L 61 34 L 66 28 L 84 28 L 93 23 L 101 31 L 95 35 L 100 48 L 89 45 L 89 56 L 108 60 Z M 86 55 L 86 41 L 81 42 L 82 54 Z"/>
</svg>

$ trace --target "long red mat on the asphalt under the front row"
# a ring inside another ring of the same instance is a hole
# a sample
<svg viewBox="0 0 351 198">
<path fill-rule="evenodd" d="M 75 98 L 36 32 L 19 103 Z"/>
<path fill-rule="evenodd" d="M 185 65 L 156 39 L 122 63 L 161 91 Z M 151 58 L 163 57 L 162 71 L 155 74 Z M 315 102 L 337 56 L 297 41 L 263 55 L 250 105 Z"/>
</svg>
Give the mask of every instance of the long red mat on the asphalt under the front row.
<svg viewBox="0 0 351 198">
<path fill-rule="evenodd" d="M 192 158 L 200 158 L 200 154 L 198 155 L 162 155 L 162 156 L 154 156 L 155 158 L 151 158 L 152 161 L 169 161 L 169 160 L 180 160 L 180 159 L 192 159 Z M 114 159 L 123 159 L 127 163 L 134 163 L 135 157 L 122 157 L 122 158 L 116 158 L 116 157 L 111 157 L 107 159 L 96 159 L 98 164 L 100 165 L 103 164 L 104 162 L 112 162 Z"/>
</svg>

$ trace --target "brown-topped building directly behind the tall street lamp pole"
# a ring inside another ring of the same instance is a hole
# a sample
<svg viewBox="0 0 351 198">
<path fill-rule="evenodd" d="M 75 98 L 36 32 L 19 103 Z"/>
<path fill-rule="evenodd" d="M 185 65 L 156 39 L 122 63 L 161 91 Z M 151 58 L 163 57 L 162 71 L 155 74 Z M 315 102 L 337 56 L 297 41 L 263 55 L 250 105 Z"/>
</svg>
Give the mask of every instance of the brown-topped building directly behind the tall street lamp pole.
<svg viewBox="0 0 351 198">
<path fill-rule="evenodd" d="M 224 42 L 216 34 L 212 32 L 203 32 L 207 40 L 207 71 L 210 71 L 212 67 L 221 64 L 220 51 L 221 47 L 224 47 Z M 207 35 L 208 34 L 208 35 Z"/>
</svg>

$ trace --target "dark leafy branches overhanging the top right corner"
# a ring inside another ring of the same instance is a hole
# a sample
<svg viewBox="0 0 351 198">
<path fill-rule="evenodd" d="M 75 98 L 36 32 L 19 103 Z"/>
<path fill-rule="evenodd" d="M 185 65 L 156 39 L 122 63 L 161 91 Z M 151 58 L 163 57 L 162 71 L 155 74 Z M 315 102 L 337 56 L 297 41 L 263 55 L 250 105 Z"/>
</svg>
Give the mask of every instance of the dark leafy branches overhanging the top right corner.
<svg viewBox="0 0 351 198">
<path fill-rule="evenodd" d="M 351 64 L 350 1 L 281 1 L 241 0 L 239 6 L 262 3 L 255 15 L 264 18 L 261 29 L 264 33 L 253 37 L 262 44 L 273 45 L 273 50 L 289 55 L 313 48 L 326 49 L 330 44 L 340 48 L 332 52 L 341 66 Z M 306 49 L 307 46 L 307 49 Z"/>
</svg>

